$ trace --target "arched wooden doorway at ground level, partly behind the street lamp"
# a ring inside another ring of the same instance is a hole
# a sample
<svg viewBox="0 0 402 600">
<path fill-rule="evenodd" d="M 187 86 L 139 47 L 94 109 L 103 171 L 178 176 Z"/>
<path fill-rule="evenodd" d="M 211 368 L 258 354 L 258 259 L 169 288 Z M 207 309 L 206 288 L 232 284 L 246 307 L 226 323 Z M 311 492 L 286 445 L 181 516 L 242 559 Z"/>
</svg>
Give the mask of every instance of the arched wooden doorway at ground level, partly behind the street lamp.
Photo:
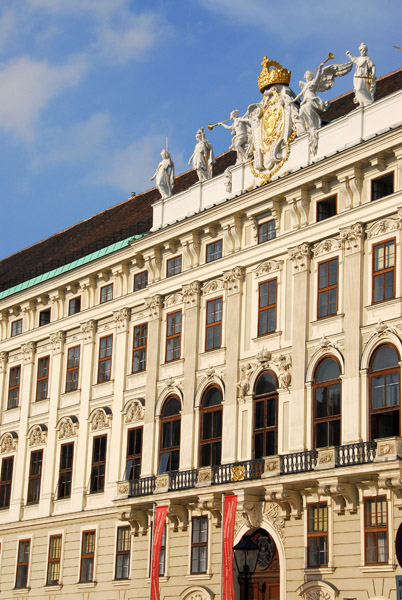
<svg viewBox="0 0 402 600">
<path fill-rule="evenodd" d="M 255 573 L 248 584 L 248 600 L 279 600 L 280 572 L 276 544 L 265 529 L 254 531 L 251 539 L 259 545 L 260 554 Z M 244 588 L 244 581 L 239 583 Z M 245 597 L 244 589 L 241 589 L 240 597 Z"/>
</svg>

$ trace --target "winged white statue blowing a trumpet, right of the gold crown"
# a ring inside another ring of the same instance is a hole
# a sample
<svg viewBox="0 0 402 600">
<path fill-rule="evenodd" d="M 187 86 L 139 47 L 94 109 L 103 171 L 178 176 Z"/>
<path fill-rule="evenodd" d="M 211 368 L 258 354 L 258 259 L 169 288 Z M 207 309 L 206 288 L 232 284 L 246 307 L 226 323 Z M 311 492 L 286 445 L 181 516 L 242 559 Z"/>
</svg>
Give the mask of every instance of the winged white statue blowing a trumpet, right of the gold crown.
<svg viewBox="0 0 402 600">
<path fill-rule="evenodd" d="M 333 55 L 331 55 L 331 58 Z M 328 60 L 328 59 L 327 59 Z M 304 74 L 305 81 L 300 81 L 300 93 L 293 99 L 296 102 L 301 96 L 303 100 L 300 104 L 300 110 L 294 123 L 297 134 L 308 133 L 309 147 L 312 154 L 316 154 L 318 146 L 317 131 L 321 127 L 321 117 L 319 111 L 324 111 L 328 108 L 328 102 L 323 101 L 317 96 L 317 92 L 325 92 L 332 88 L 335 77 L 341 77 L 351 71 L 351 63 L 341 65 L 329 65 L 324 67 L 324 61 L 316 69 L 317 73 L 314 77 L 314 72 L 306 71 Z"/>
</svg>

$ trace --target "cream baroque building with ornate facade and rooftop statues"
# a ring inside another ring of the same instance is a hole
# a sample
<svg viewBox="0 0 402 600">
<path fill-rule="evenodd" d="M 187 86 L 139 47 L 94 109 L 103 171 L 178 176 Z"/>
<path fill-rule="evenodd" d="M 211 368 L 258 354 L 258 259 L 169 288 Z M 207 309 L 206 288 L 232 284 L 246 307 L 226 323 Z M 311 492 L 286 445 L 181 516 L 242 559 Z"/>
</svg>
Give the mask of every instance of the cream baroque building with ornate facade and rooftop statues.
<svg viewBox="0 0 402 600">
<path fill-rule="evenodd" d="M 249 600 L 395 597 L 402 70 L 284 138 L 266 63 L 271 145 L 250 158 L 236 122 L 213 163 L 199 130 L 212 177 L 169 189 L 166 150 L 163 198 L 0 263 L 0 599 L 148 598 L 158 506 L 160 598 L 221 598 L 227 496 Z"/>
</svg>

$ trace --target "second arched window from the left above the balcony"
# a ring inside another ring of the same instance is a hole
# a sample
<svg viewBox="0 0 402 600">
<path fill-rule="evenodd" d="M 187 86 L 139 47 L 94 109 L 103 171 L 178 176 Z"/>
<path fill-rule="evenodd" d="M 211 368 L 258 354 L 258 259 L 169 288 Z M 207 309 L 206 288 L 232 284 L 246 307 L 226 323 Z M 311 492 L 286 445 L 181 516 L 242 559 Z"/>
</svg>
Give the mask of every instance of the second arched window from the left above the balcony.
<svg viewBox="0 0 402 600">
<path fill-rule="evenodd" d="M 221 464 L 222 392 L 210 387 L 201 403 L 200 467 Z"/>
</svg>

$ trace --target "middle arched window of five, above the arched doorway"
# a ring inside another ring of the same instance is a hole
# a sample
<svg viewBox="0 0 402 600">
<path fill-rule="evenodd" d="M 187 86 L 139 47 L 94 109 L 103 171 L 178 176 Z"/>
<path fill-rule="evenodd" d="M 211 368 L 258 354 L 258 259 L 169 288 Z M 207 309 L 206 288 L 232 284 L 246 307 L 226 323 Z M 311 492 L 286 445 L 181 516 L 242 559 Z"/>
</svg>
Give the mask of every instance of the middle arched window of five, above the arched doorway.
<svg viewBox="0 0 402 600">
<path fill-rule="evenodd" d="M 254 388 L 254 458 L 278 452 L 278 392 L 276 377 L 264 371 Z"/>
</svg>

